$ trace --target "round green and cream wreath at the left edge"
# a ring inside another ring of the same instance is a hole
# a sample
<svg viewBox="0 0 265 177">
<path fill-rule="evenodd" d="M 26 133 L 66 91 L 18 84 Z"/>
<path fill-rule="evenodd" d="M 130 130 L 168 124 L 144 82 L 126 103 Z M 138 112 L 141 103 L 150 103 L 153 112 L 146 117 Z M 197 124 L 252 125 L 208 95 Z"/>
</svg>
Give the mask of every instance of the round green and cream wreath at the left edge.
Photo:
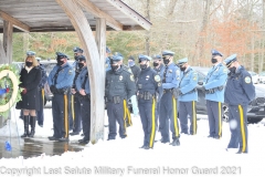
<svg viewBox="0 0 265 177">
<path fill-rule="evenodd" d="M 0 65 L 0 116 L 8 117 L 10 108 L 21 101 L 20 74 L 13 64 Z"/>
</svg>

